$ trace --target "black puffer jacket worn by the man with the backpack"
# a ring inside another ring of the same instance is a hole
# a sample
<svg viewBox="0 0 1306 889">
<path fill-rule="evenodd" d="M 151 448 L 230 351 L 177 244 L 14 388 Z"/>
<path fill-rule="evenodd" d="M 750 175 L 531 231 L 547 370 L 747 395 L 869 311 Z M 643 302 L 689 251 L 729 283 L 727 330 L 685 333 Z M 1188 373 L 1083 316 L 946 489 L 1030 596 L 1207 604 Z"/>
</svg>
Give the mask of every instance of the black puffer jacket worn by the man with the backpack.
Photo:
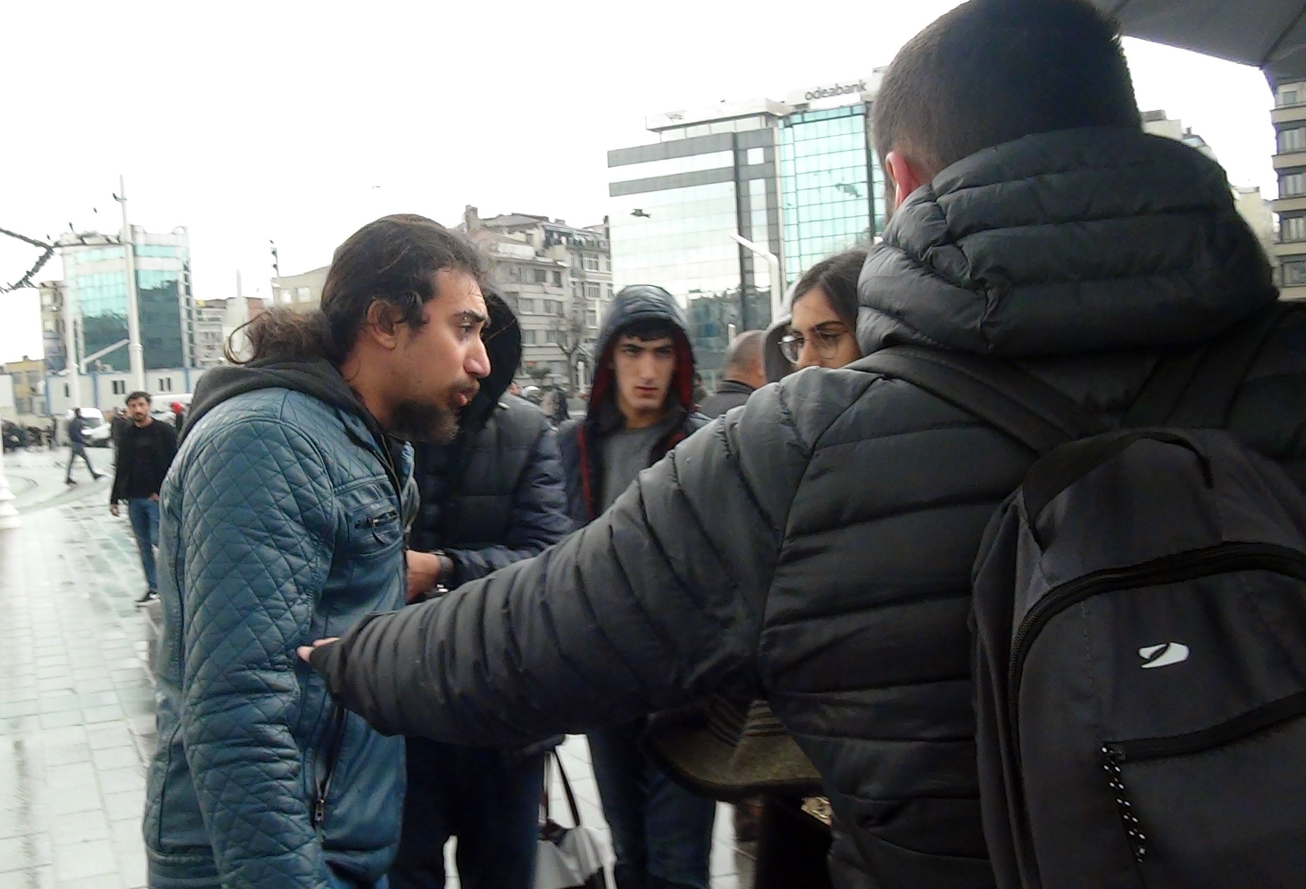
<svg viewBox="0 0 1306 889">
<path fill-rule="evenodd" d="M 1165 346 L 1273 299 L 1215 163 L 1135 131 L 1059 132 L 981 151 L 905 201 L 863 272 L 858 338 L 1012 359 L 1111 415 Z M 1232 427 L 1306 486 L 1302 315 L 1267 343 Z M 541 557 L 313 661 L 381 730 L 477 743 L 765 696 L 872 850 L 836 847 L 840 885 L 990 886 L 970 567 L 1033 458 L 910 384 L 802 371 Z"/>
</svg>

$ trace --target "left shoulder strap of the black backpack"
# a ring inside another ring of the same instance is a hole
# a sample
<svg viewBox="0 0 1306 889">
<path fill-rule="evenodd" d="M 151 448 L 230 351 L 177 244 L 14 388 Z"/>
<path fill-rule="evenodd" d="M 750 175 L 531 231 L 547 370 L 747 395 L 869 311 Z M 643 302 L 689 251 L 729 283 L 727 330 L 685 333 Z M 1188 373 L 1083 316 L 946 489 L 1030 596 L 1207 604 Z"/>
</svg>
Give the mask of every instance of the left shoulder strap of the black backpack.
<svg viewBox="0 0 1306 889">
<path fill-rule="evenodd" d="M 1045 454 L 1102 424 L 1010 362 L 922 346 L 893 346 L 848 366 L 905 380 Z"/>
</svg>

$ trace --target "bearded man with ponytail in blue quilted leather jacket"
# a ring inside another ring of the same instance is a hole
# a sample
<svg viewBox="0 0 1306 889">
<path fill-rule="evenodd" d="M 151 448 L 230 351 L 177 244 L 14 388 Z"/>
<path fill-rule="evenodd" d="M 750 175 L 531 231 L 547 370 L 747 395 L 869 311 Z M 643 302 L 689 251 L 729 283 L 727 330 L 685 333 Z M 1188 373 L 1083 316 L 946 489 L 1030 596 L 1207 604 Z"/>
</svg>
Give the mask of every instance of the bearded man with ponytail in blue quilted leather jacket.
<svg viewBox="0 0 1306 889">
<path fill-rule="evenodd" d="M 264 312 L 209 371 L 163 483 L 154 889 L 362 889 L 400 839 L 404 739 L 346 714 L 295 646 L 404 604 L 411 449 L 490 372 L 477 253 L 415 215 L 332 260 L 320 311 Z"/>
</svg>

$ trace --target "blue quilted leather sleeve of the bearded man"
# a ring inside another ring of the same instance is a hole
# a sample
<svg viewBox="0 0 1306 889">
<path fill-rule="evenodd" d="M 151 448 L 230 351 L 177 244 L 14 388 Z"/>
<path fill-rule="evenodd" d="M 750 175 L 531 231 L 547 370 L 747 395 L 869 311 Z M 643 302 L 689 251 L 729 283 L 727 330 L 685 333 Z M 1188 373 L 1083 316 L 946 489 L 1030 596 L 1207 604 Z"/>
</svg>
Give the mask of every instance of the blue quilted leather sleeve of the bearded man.
<svg viewBox="0 0 1306 889">
<path fill-rule="evenodd" d="M 325 460 L 279 420 L 242 419 L 192 456 L 182 488 L 182 731 L 222 885 L 324 888 L 291 726 L 295 646 L 333 550 Z"/>
</svg>

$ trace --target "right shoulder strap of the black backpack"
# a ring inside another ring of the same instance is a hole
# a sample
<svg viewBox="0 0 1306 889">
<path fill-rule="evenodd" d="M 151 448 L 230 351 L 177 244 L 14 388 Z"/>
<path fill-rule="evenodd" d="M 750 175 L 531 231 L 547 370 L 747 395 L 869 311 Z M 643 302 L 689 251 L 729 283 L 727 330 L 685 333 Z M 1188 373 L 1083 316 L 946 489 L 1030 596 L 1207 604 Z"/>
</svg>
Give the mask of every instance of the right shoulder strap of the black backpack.
<svg viewBox="0 0 1306 889">
<path fill-rule="evenodd" d="M 1290 311 L 1277 302 L 1234 325 L 1225 335 L 1157 362 L 1122 426 L 1221 428 L 1238 389 L 1271 332 Z"/>
</svg>

